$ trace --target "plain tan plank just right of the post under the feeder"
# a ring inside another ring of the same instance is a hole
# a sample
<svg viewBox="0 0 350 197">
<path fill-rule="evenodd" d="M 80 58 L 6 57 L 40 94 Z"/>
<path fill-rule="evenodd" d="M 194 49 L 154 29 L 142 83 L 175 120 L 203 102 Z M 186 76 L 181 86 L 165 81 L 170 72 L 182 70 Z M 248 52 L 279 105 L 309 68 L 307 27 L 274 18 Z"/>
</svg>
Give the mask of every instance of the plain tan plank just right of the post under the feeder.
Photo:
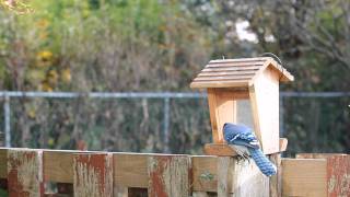
<svg viewBox="0 0 350 197">
<path fill-rule="evenodd" d="M 327 161 L 282 159 L 283 196 L 327 196 Z"/>
</svg>

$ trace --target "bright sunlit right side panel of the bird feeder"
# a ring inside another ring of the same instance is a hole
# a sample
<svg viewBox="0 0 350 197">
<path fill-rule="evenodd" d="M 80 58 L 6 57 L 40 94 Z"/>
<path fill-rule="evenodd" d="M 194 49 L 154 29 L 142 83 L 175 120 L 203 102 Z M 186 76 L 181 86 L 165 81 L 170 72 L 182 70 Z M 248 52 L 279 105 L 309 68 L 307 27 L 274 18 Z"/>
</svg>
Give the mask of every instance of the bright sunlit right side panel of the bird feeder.
<svg viewBox="0 0 350 197">
<path fill-rule="evenodd" d="M 279 73 L 266 69 L 249 86 L 254 131 L 265 154 L 279 151 Z"/>
</svg>

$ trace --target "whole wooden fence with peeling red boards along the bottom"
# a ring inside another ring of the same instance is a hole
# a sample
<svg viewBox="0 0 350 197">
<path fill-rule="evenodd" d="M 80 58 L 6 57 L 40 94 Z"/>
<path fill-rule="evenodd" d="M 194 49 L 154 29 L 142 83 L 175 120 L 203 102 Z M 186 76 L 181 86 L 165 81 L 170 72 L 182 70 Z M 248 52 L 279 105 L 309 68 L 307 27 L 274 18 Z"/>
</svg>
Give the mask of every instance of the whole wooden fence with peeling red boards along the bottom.
<svg viewBox="0 0 350 197">
<path fill-rule="evenodd" d="M 3 148 L 0 187 L 11 197 L 349 196 L 350 155 L 270 155 L 279 167 L 268 178 L 232 157 Z"/>
</svg>

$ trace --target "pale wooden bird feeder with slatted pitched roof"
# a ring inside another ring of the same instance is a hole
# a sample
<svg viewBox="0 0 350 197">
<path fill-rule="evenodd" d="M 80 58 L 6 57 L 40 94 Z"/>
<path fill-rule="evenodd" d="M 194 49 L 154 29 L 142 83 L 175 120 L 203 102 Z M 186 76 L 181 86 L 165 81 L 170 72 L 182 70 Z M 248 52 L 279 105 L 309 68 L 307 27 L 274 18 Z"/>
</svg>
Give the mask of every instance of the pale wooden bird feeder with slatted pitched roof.
<svg viewBox="0 0 350 197">
<path fill-rule="evenodd" d="M 213 143 L 206 147 L 224 147 L 223 125 L 237 124 L 237 100 L 249 100 L 264 153 L 279 152 L 279 82 L 293 80 L 270 57 L 211 60 L 190 83 L 208 92 Z"/>
</svg>

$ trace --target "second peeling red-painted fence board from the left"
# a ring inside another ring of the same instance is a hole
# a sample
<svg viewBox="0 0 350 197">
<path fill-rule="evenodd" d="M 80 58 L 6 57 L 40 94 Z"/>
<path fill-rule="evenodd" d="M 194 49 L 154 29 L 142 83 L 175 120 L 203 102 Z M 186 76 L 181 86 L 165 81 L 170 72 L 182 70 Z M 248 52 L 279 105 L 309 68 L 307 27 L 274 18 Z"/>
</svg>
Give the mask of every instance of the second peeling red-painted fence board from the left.
<svg viewBox="0 0 350 197">
<path fill-rule="evenodd" d="M 109 153 L 73 157 L 74 196 L 113 196 L 113 160 Z"/>
</svg>

